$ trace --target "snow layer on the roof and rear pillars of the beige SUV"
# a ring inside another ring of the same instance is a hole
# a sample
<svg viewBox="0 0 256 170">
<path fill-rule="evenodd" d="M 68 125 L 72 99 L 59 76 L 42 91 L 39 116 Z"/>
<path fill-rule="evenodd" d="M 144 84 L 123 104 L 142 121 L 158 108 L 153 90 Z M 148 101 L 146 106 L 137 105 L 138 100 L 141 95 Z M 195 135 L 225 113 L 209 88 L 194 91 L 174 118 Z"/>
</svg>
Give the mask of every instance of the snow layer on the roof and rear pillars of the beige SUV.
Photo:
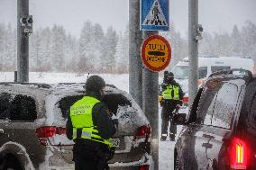
<svg viewBox="0 0 256 170">
<path fill-rule="evenodd" d="M 46 111 L 46 118 L 43 116 L 43 114 L 39 114 L 38 121 L 44 121 L 46 124 L 52 125 L 54 121 L 56 121 L 56 114 L 52 114 L 52 112 L 56 112 L 56 103 L 58 103 L 61 98 L 66 96 L 85 94 L 85 89 L 83 88 L 84 85 L 84 83 L 62 83 L 55 85 L 2 83 L 0 84 L 0 92 L 13 92 L 14 94 L 24 94 L 32 96 L 39 103 L 39 110 L 42 112 L 44 109 L 44 105 Z M 133 121 L 140 121 L 140 124 L 149 124 L 149 121 L 145 118 L 142 109 L 137 103 L 135 103 L 130 94 L 127 94 L 125 91 L 114 87 L 114 85 L 105 86 L 105 94 L 122 94 L 130 101 L 130 103 L 132 103 L 133 109 L 135 109 L 139 115 L 140 120 Z M 127 112 L 131 112 L 131 108 L 126 108 L 126 110 Z M 119 108 L 118 111 L 121 112 L 121 114 L 122 112 L 125 112 L 123 111 L 123 108 Z M 57 120 L 60 120 L 61 114 L 59 113 L 58 115 L 59 118 Z M 119 115 L 118 117 L 120 116 L 122 117 L 122 115 Z M 121 124 L 123 124 L 123 126 L 127 124 L 125 119 L 122 119 L 122 121 L 123 123 Z"/>
</svg>

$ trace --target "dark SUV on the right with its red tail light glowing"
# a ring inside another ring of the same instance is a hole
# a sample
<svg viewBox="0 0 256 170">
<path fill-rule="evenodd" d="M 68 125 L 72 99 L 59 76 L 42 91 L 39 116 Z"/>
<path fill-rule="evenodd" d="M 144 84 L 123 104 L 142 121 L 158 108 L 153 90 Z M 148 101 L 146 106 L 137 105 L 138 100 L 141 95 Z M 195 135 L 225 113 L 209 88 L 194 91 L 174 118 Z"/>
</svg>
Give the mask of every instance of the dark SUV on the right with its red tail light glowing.
<svg viewBox="0 0 256 170">
<path fill-rule="evenodd" d="M 175 145 L 174 169 L 256 169 L 256 76 L 250 71 L 209 76 L 187 121 L 178 120 L 185 126 Z"/>
</svg>

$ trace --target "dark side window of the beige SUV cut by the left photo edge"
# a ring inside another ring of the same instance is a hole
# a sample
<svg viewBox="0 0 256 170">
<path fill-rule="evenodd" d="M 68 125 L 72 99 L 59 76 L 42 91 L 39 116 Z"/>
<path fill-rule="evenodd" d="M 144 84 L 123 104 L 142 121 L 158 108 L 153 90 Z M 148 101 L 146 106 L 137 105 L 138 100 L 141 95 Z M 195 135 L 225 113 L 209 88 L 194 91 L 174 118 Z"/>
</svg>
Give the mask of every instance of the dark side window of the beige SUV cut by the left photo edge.
<svg viewBox="0 0 256 170">
<path fill-rule="evenodd" d="M 12 100 L 11 94 L 0 94 L 0 120 L 9 118 Z"/>
</svg>

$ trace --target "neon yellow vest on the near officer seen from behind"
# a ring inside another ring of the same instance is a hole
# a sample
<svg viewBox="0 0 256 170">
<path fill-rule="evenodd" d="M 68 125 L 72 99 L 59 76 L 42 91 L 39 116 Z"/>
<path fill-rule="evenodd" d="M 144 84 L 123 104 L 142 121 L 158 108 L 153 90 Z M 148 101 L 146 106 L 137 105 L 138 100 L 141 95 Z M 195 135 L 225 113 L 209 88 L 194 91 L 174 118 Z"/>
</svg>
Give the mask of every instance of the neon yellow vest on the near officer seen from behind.
<svg viewBox="0 0 256 170">
<path fill-rule="evenodd" d="M 100 137 L 96 126 L 93 123 L 93 107 L 100 103 L 94 97 L 85 96 L 70 107 L 70 118 L 73 125 L 73 139 L 77 139 L 77 130 L 81 129 L 81 139 L 91 139 L 112 147 L 112 139 L 103 139 Z"/>
</svg>

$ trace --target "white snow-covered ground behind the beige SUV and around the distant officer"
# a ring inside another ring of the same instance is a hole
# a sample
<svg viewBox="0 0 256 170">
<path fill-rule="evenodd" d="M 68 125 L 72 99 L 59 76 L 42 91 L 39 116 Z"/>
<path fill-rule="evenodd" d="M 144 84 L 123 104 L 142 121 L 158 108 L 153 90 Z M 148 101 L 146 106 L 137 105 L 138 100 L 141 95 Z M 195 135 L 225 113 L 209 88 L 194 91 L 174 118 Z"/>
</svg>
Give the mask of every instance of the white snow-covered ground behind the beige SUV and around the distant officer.
<svg viewBox="0 0 256 170">
<path fill-rule="evenodd" d="M 117 88 L 129 92 L 129 75 L 109 75 L 102 74 L 99 75 L 105 79 L 107 84 L 115 85 Z M 76 82 L 81 83 L 87 80 L 87 75 L 78 76 L 78 74 L 68 74 L 68 73 L 30 73 L 30 82 L 33 83 L 46 83 L 46 84 L 56 84 L 64 82 Z M 0 73 L 0 82 L 13 82 L 14 73 Z M 160 113 L 160 110 L 159 110 Z M 160 114 L 159 114 L 160 115 Z M 160 117 L 159 117 L 160 118 Z M 160 119 L 159 119 L 160 120 Z M 159 123 L 160 126 L 161 123 Z M 178 126 L 178 132 L 181 129 Z M 172 170 L 173 169 L 173 149 L 175 142 L 160 141 L 160 157 L 159 166 L 160 170 Z"/>
</svg>

